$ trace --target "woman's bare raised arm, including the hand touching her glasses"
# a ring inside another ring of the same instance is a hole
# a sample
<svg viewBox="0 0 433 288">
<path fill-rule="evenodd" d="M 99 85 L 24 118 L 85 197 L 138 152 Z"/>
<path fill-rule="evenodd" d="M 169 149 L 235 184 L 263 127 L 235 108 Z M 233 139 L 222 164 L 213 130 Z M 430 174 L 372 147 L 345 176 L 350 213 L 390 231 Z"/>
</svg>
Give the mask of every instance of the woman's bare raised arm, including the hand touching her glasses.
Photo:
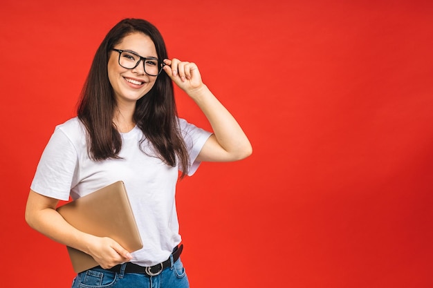
<svg viewBox="0 0 433 288">
<path fill-rule="evenodd" d="M 230 112 L 203 84 L 196 64 L 178 59 L 165 59 L 167 75 L 201 108 L 214 134 L 205 143 L 197 160 L 229 162 L 241 160 L 252 153 L 252 146 L 241 126 Z"/>
</svg>

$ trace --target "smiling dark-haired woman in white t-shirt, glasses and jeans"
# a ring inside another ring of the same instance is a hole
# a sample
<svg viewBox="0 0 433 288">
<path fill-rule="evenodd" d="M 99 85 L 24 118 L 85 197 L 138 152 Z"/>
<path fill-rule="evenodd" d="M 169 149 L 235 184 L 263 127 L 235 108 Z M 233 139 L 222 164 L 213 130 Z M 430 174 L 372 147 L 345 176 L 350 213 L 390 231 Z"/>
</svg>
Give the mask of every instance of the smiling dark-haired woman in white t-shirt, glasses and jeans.
<svg viewBox="0 0 433 288">
<path fill-rule="evenodd" d="M 178 119 L 173 82 L 201 108 L 213 133 Z M 151 23 L 124 19 L 95 54 L 77 117 L 56 127 L 42 154 L 26 221 L 99 263 L 78 273 L 73 287 L 188 287 L 177 249 L 178 170 L 181 177 L 192 175 L 200 162 L 241 160 L 251 153 L 248 138 L 203 84 L 197 66 L 168 59 Z M 117 180 L 128 191 L 144 245 L 139 251 L 78 231 L 55 210 L 59 200 L 75 200 Z"/>
</svg>

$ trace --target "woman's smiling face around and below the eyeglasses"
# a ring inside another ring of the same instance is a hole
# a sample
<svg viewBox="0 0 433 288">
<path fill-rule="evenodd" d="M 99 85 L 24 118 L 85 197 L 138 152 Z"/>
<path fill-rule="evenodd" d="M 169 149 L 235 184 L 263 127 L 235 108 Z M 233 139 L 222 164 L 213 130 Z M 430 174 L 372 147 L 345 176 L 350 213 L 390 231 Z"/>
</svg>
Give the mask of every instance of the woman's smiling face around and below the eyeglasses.
<svg viewBox="0 0 433 288">
<path fill-rule="evenodd" d="M 125 36 L 115 49 L 129 50 L 142 57 L 158 58 L 156 48 L 150 37 L 134 32 Z M 154 86 L 156 76 L 145 73 L 143 61 L 136 68 L 127 69 L 119 65 L 119 52 L 111 51 L 108 61 L 108 77 L 118 104 L 136 102 Z"/>
</svg>

